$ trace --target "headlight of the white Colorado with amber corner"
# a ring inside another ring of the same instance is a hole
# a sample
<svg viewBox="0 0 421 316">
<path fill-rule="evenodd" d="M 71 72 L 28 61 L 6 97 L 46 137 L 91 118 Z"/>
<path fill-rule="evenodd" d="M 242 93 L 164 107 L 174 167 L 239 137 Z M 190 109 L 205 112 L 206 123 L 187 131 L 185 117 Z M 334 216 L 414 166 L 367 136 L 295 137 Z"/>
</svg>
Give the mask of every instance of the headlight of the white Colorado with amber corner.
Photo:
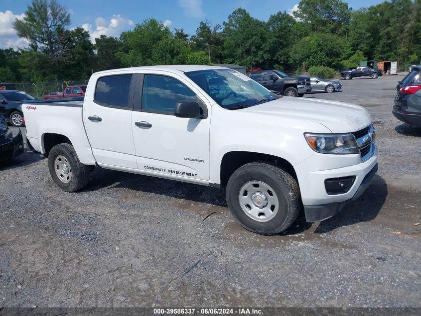
<svg viewBox="0 0 421 316">
<path fill-rule="evenodd" d="M 352 134 L 304 134 L 310 147 L 322 154 L 359 154 L 358 145 Z"/>
</svg>

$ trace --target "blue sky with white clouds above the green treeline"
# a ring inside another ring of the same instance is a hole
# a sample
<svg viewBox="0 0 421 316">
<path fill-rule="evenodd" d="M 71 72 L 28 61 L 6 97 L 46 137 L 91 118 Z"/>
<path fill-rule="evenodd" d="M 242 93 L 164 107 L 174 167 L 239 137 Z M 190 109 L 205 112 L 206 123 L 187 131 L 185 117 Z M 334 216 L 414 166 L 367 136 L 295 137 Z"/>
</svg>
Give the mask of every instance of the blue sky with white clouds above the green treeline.
<svg viewBox="0 0 421 316">
<path fill-rule="evenodd" d="M 381 3 L 383 0 L 349 0 L 354 9 Z M 299 0 L 58 0 L 70 13 L 70 27 L 83 27 L 91 40 L 100 35 L 119 36 L 146 18 L 161 20 L 171 30 L 183 28 L 195 34 L 200 21 L 221 24 L 235 9 L 245 8 L 253 17 L 268 20 L 271 14 L 286 11 L 292 14 Z M 27 46 L 12 28 L 14 19 L 22 19 L 30 0 L 1 0 L 0 48 Z"/>
</svg>

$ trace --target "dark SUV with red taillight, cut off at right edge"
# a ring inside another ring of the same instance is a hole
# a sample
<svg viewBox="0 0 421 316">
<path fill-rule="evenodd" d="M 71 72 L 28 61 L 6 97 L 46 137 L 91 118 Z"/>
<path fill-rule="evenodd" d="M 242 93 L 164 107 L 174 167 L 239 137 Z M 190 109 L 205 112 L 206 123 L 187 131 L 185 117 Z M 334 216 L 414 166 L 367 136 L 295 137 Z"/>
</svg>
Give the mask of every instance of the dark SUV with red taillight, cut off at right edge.
<svg viewBox="0 0 421 316">
<path fill-rule="evenodd" d="M 393 115 L 407 124 L 421 126 L 421 65 L 414 66 L 412 71 L 399 81 L 396 86 Z"/>
</svg>

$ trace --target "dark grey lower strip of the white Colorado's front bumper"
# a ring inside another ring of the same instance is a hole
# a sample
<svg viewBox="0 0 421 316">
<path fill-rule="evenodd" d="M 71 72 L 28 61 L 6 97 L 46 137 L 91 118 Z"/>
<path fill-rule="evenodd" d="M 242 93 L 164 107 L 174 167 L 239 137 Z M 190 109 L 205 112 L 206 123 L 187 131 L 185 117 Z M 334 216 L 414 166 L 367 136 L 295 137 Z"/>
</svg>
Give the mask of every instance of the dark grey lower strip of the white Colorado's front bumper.
<svg viewBox="0 0 421 316">
<path fill-rule="evenodd" d="M 307 222 L 318 222 L 338 214 L 348 203 L 355 201 L 361 196 L 361 194 L 363 194 L 363 192 L 370 186 L 378 169 L 379 168 L 376 163 L 373 169 L 371 169 L 371 171 L 364 177 L 354 196 L 348 200 L 322 205 L 304 205 L 305 220 Z"/>
</svg>

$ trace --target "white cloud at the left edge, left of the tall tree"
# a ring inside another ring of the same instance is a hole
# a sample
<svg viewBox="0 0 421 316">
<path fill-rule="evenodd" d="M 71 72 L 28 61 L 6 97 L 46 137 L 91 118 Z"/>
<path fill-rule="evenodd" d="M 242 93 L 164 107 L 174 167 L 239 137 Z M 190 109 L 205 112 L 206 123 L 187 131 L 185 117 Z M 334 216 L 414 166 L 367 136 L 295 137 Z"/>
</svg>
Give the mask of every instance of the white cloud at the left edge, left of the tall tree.
<svg viewBox="0 0 421 316">
<path fill-rule="evenodd" d="M 25 16 L 25 13 L 13 14 L 10 10 L 6 10 L 5 12 L 0 11 L 0 43 L 2 43 L 0 44 L 0 48 L 12 47 L 17 49 L 16 46 L 24 47 L 28 45 L 29 41 L 25 38 L 17 37 L 16 31 L 12 26 L 16 18 L 21 20 Z"/>
</svg>

